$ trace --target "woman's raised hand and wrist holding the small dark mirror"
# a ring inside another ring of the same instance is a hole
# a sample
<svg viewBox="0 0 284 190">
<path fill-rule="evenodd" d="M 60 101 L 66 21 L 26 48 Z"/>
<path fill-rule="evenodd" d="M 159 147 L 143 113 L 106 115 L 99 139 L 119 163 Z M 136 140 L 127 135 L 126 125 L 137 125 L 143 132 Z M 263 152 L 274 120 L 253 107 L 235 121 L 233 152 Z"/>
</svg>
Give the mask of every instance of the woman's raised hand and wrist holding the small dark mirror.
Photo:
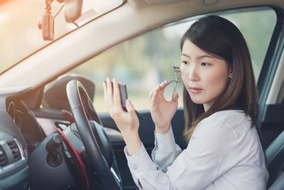
<svg viewBox="0 0 284 190">
<path fill-rule="evenodd" d="M 111 80 L 107 78 L 107 83 L 104 86 L 104 101 L 109 109 L 109 115 L 116 123 L 121 131 L 124 141 L 126 142 L 129 155 L 135 154 L 141 147 L 141 140 L 138 135 L 139 120 L 135 109 L 130 100 L 126 100 L 126 111 L 121 106 L 119 84 L 114 79 L 113 85 Z"/>
</svg>

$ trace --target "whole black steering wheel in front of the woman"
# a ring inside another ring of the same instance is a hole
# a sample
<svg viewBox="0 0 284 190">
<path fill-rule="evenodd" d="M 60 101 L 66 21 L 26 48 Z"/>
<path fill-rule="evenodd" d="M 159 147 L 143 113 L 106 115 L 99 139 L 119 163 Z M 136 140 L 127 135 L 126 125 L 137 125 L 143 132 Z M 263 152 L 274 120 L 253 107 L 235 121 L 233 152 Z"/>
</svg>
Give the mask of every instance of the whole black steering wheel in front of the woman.
<svg viewBox="0 0 284 190">
<path fill-rule="evenodd" d="M 78 80 L 70 80 L 66 91 L 77 130 L 93 171 L 97 173 L 105 189 L 121 190 L 122 181 L 114 149 L 104 132 L 92 100 Z"/>
</svg>

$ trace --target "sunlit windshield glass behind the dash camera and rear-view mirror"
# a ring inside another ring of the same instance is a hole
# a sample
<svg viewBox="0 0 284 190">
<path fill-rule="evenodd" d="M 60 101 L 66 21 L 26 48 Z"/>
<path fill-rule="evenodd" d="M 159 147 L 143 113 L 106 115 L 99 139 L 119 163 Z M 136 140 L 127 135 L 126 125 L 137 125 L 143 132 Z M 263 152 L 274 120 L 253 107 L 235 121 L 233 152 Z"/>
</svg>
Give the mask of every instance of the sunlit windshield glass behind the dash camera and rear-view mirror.
<svg viewBox="0 0 284 190">
<path fill-rule="evenodd" d="M 84 23 L 115 9 L 123 0 L 83 0 L 82 16 L 75 23 Z M 77 28 L 64 19 L 64 4 L 53 1 L 51 14 L 54 19 L 54 40 Z M 58 11 L 60 11 L 58 13 Z M 23 58 L 38 51 L 52 41 L 43 41 L 38 21 L 45 13 L 45 0 L 4 0 L 0 1 L 0 73 Z"/>
</svg>

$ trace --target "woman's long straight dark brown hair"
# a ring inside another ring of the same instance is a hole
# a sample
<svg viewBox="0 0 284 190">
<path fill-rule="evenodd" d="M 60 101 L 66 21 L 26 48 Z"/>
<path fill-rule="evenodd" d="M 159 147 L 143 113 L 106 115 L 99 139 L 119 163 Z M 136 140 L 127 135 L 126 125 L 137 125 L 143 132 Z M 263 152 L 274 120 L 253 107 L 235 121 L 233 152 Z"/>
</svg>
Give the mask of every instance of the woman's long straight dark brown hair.
<svg viewBox="0 0 284 190">
<path fill-rule="evenodd" d="M 185 86 L 183 87 L 185 115 L 183 134 L 187 142 L 201 120 L 222 110 L 243 110 L 251 117 L 251 126 L 256 125 L 258 93 L 251 56 L 244 36 L 234 23 L 219 16 L 203 17 L 193 23 L 182 36 L 181 51 L 185 40 L 190 40 L 195 46 L 215 58 L 224 59 L 233 74 L 228 80 L 224 93 L 207 112 L 204 112 L 203 105 L 192 102 Z"/>
</svg>

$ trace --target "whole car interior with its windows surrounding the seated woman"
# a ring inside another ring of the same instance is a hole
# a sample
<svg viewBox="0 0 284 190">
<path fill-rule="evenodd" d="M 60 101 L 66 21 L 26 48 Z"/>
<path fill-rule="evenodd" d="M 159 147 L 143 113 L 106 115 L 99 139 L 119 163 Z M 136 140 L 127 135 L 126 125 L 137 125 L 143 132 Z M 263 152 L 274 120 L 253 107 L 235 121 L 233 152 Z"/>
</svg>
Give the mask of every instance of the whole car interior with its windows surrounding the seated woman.
<svg viewBox="0 0 284 190">
<path fill-rule="evenodd" d="M 0 1 L 0 189 L 138 189 L 102 83 L 111 77 L 127 85 L 151 155 L 155 126 L 148 93 L 173 80 L 180 37 L 209 14 L 235 23 L 248 43 L 267 189 L 284 189 L 283 0 L 85 1 L 75 1 L 76 14 L 64 0 Z M 21 11 L 23 29 L 15 25 Z M 45 33 L 45 19 L 54 21 L 53 33 Z M 181 95 L 182 84 L 177 91 Z M 185 149 L 181 100 L 171 125 Z"/>
</svg>

